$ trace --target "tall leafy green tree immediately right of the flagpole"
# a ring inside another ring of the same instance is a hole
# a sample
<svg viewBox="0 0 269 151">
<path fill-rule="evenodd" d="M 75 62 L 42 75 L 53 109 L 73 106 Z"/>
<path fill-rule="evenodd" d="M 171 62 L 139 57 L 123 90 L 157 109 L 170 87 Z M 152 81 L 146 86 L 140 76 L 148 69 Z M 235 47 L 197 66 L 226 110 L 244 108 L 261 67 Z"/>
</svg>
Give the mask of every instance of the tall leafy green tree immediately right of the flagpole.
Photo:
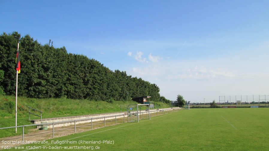
<svg viewBox="0 0 269 151">
<path fill-rule="evenodd" d="M 44 98 L 46 89 L 43 86 L 47 83 L 44 81 L 44 70 L 40 66 L 44 59 L 41 48 L 41 44 L 29 35 L 20 39 L 21 73 L 18 77 L 18 95 Z"/>
</svg>

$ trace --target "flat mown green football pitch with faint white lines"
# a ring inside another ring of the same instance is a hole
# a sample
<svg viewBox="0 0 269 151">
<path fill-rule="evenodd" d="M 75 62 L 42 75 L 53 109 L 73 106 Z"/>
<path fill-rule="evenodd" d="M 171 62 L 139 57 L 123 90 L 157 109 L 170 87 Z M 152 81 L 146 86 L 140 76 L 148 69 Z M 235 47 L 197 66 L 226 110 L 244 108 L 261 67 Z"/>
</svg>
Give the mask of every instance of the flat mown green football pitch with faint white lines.
<svg viewBox="0 0 269 151">
<path fill-rule="evenodd" d="M 190 109 L 9 150 L 269 150 L 269 109 Z M 31 141 L 31 140 L 29 140 Z"/>
</svg>

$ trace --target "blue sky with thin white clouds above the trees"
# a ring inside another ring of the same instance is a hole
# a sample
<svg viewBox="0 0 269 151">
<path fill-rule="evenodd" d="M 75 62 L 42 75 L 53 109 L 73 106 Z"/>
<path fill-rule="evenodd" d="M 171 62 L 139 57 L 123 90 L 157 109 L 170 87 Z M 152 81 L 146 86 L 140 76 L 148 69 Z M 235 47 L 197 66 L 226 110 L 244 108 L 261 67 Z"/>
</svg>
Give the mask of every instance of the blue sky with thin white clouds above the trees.
<svg viewBox="0 0 269 151">
<path fill-rule="evenodd" d="M 1 32 L 83 54 L 176 100 L 269 94 L 269 1 L 0 0 Z"/>
</svg>

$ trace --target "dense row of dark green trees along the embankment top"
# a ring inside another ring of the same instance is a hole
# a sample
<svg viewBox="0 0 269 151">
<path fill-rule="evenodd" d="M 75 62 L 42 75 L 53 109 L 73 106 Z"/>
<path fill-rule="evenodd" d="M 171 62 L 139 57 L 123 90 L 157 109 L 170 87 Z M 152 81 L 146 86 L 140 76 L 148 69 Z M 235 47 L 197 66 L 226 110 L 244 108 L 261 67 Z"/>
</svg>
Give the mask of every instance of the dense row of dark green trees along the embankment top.
<svg viewBox="0 0 269 151">
<path fill-rule="evenodd" d="M 29 35 L 17 32 L 0 35 L 0 92 L 14 95 L 15 58 L 19 42 L 21 73 L 18 95 L 34 98 L 126 100 L 151 96 L 150 100 L 170 103 L 160 97 L 159 87 L 126 71 L 111 71 L 99 61 L 55 48 L 53 42 L 41 45 Z"/>
</svg>

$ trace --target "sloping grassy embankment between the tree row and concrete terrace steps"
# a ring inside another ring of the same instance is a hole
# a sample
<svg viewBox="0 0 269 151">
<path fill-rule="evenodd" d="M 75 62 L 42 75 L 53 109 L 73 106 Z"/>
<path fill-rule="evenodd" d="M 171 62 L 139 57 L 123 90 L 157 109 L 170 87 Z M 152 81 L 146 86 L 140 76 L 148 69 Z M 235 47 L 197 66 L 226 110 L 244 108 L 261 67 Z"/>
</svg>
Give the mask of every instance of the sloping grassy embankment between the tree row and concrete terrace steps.
<svg viewBox="0 0 269 151">
<path fill-rule="evenodd" d="M 35 99 L 27 97 L 18 97 L 17 101 L 17 126 L 29 125 L 28 107 L 42 111 L 42 118 L 55 118 L 76 115 L 89 115 L 100 113 L 120 112 L 120 105 L 137 104 L 134 101 L 114 101 L 108 103 L 105 101 L 90 101 L 90 100 L 72 100 L 72 99 Z M 158 102 L 162 108 L 169 107 L 165 103 Z M 122 111 L 124 111 L 122 109 Z M 34 112 L 34 111 L 31 111 Z M 34 112 L 40 115 L 40 112 Z M 30 115 L 32 119 L 40 119 L 38 116 Z M 15 96 L 0 96 L 0 128 L 15 126 Z M 34 128 L 34 127 L 32 127 Z M 18 128 L 17 134 L 15 129 L 1 129 L 0 138 L 21 135 L 22 128 Z M 30 126 L 25 127 L 25 133 L 31 129 Z"/>
</svg>

